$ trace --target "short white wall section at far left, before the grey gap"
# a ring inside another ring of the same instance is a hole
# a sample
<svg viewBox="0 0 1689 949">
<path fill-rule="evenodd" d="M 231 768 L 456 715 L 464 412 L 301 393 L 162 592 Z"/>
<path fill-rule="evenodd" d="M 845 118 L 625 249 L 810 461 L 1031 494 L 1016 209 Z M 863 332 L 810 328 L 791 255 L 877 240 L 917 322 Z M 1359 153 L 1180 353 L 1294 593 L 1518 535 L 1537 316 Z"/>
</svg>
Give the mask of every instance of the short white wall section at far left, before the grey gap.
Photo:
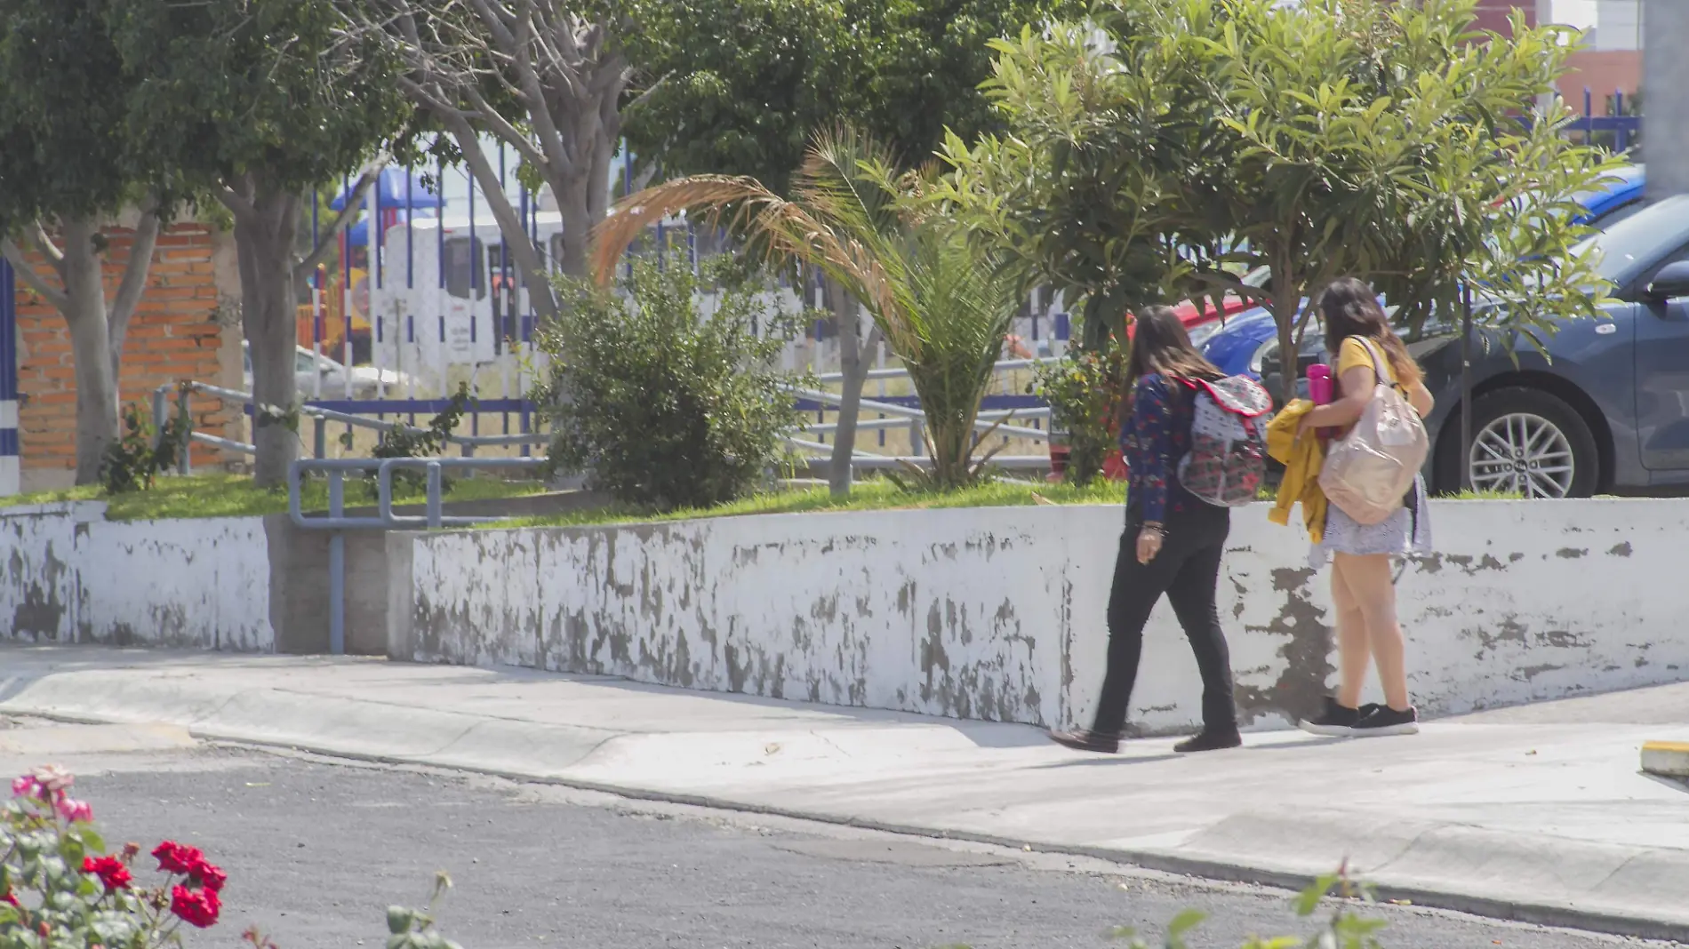
<svg viewBox="0 0 1689 949">
<path fill-rule="evenodd" d="M 0 633 L 272 652 L 263 518 L 108 522 L 105 505 L 0 510 Z"/>
</svg>

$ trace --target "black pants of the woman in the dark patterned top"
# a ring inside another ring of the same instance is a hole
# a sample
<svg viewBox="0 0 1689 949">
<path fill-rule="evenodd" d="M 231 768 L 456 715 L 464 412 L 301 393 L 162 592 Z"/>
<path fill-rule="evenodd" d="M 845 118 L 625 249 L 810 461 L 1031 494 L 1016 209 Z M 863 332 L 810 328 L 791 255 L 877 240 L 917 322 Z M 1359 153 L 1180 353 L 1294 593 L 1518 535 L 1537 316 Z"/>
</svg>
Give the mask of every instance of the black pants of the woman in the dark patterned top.
<svg viewBox="0 0 1689 949">
<path fill-rule="evenodd" d="M 1120 535 L 1120 557 L 1115 561 L 1115 586 L 1108 594 L 1108 674 L 1096 702 L 1093 731 L 1120 735 L 1125 728 L 1132 686 L 1138 679 L 1138 659 L 1143 655 L 1143 625 L 1164 593 L 1191 640 L 1196 667 L 1203 674 L 1203 729 L 1236 731 L 1231 655 L 1214 606 L 1231 512 L 1198 502 L 1194 508 L 1170 515 L 1160 554 L 1147 564 L 1138 562 L 1140 525 L 1137 510 L 1127 512 L 1127 530 Z"/>
</svg>

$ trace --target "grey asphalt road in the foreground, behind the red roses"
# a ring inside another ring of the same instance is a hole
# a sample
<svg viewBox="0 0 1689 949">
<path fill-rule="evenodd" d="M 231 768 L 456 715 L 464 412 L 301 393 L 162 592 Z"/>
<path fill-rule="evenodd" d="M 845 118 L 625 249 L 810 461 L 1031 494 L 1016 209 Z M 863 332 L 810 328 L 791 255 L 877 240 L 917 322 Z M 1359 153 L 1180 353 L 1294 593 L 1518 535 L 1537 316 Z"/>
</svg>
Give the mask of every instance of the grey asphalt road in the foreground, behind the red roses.
<svg viewBox="0 0 1689 949">
<path fill-rule="evenodd" d="M 1209 914 L 1198 947 L 1307 930 L 1270 890 L 556 787 L 233 748 L 64 763 L 113 846 L 177 838 L 228 870 L 223 925 L 189 946 L 235 946 L 248 924 L 282 949 L 382 946 L 385 907 L 426 900 L 436 870 L 464 949 L 1120 946 L 1111 927 L 1159 939 L 1186 907 Z M 1627 944 L 1377 912 L 1390 949 Z"/>
</svg>

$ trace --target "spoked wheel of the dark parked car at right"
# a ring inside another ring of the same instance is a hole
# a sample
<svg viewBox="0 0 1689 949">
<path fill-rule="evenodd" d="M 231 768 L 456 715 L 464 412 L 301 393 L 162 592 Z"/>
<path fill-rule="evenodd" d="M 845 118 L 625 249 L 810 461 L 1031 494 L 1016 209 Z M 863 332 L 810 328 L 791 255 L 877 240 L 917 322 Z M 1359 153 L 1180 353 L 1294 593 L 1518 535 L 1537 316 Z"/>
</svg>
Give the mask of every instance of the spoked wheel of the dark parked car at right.
<svg viewBox="0 0 1689 949">
<path fill-rule="evenodd" d="M 1525 498 L 1588 498 L 1599 483 L 1601 454 L 1583 415 L 1539 388 L 1502 388 L 1473 404 L 1473 446 L 1461 458 L 1456 431 L 1437 453 L 1437 481 L 1454 488 L 1461 464 L 1474 491 Z"/>
</svg>

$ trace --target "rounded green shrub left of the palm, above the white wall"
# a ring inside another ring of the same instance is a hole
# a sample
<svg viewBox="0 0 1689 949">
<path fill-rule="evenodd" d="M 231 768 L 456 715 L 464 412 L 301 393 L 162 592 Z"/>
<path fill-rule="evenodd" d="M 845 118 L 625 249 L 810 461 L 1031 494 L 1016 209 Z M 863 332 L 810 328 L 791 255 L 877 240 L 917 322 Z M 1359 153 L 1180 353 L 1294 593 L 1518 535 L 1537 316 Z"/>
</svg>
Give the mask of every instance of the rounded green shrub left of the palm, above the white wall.
<svg viewBox="0 0 1689 949">
<path fill-rule="evenodd" d="M 534 400 L 551 422 L 552 469 L 659 510 L 752 493 L 797 422 L 774 365 L 792 321 L 726 258 L 699 277 L 642 260 L 622 289 L 564 282 L 568 307 L 539 334 L 551 365 Z M 696 292 L 709 289 L 704 314 Z"/>
</svg>

